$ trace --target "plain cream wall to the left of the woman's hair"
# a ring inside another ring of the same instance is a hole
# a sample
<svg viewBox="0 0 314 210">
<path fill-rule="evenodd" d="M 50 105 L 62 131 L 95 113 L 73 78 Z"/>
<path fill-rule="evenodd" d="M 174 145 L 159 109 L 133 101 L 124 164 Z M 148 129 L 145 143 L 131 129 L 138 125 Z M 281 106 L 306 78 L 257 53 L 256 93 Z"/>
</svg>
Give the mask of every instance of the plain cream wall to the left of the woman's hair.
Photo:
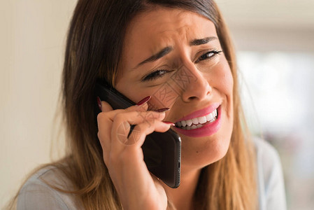
<svg viewBox="0 0 314 210">
<path fill-rule="evenodd" d="M 66 30 L 75 3 L 0 0 L 0 209 L 31 169 L 50 161 Z"/>
</svg>

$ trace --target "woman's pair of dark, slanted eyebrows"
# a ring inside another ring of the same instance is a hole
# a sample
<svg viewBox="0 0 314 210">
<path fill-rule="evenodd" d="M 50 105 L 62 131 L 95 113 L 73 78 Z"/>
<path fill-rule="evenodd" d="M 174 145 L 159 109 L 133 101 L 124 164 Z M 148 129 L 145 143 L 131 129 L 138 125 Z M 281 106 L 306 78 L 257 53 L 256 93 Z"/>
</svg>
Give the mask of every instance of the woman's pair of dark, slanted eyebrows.
<svg viewBox="0 0 314 210">
<path fill-rule="evenodd" d="M 216 36 L 210 36 L 210 37 L 206 37 L 206 38 L 196 38 L 196 39 L 193 39 L 192 41 L 190 41 L 190 46 L 204 45 L 204 44 L 206 44 L 210 41 L 213 41 L 215 39 L 218 39 L 218 38 Z M 141 66 L 141 65 L 148 63 L 148 62 L 155 62 L 157 59 L 160 59 L 160 58 L 164 57 L 165 55 L 169 54 L 169 52 L 171 52 L 172 50 L 173 50 L 173 47 L 168 46 L 168 47 L 160 50 L 156 54 L 148 57 L 148 59 L 145 59 L 143 62 L 137 64 L 137 66 L 133 69 L 136 69 L 138 66 Z"/>
</svg>

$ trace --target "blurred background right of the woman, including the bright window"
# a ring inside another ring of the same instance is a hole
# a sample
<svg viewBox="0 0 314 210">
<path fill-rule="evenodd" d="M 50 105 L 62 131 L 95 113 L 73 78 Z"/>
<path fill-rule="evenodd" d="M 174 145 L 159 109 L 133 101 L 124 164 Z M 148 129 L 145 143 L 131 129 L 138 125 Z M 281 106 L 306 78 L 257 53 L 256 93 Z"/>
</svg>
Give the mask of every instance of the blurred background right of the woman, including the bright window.
<svg viewBox="0 0 314 210">
<path fill-rule="evenodd" d="M 314 209 L 314 1 L 217 1 L 236 45 L 245 116 L 278 151 L 288 209 Z"/>
</svg>

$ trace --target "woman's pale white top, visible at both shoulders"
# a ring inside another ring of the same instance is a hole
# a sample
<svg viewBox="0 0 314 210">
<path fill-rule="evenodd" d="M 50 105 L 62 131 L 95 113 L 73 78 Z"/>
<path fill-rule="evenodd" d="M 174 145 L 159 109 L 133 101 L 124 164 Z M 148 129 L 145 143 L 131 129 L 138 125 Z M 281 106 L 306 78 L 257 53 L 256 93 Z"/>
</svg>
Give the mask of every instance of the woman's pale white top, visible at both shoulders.
<svg viewBox="0 0 314 210">
<path fill-rule="evenodd" d="M 285 210 L 285 186 L 277 151 L 266 141 L 255 139 L 260 210 Z M 43 182 L 71 189 L 69 181 L 55 167 L 39 170 L 24 184 L 17 197 L 17 210 L 83 209 L 73 195 L 60 193 Z"/>
</svg>

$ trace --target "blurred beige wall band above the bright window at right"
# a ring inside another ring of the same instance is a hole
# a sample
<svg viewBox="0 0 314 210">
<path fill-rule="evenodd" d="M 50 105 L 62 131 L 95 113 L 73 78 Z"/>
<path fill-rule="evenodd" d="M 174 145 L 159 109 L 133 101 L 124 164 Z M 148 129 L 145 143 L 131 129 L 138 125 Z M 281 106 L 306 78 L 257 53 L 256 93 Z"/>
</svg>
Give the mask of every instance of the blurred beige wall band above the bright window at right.
<svg viewBox="0 0 314 210">
<path fill-rule="evenodd" d="M 237 50 L 314 52 L 313 0 L 218 0 Z"/>
</svg>

